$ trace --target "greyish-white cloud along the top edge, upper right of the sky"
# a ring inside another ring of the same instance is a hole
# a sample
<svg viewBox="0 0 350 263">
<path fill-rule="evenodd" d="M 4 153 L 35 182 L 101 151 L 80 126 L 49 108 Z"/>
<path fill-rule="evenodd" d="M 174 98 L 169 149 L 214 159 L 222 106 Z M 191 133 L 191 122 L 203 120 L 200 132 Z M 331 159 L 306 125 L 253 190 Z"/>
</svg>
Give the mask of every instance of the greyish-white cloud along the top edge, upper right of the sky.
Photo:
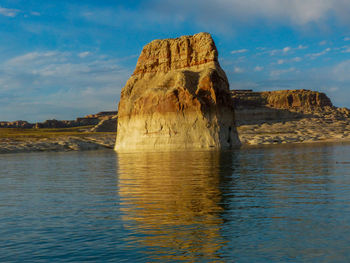
<svg viewBox="0 0 350 263">
<path fill-rule="evenodd" d="M 282 24 L 323 25 L 333 18 L 348 23 L 348 0 L 153 0 L 156 12 L 182 14 L 200 24 L 227 25 L 237 21 L 252 24 L 261 19 Z M 210 21 L 210 22 L 209 22 Z"/>
</svg>

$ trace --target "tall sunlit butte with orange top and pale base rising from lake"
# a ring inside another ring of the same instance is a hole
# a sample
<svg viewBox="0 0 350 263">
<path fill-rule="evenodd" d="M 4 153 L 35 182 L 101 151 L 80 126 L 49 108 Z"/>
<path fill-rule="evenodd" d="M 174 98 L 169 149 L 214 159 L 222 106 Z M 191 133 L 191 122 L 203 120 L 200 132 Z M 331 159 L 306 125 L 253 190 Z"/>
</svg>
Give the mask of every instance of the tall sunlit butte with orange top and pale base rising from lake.
<svg viewBox="0 0 350 263">
<path fill-rule="evenodd" d="M 239 144 L 228 80 L 210 34 L 146 45 L 121 92 L 115 150 Z"/>
</svg>

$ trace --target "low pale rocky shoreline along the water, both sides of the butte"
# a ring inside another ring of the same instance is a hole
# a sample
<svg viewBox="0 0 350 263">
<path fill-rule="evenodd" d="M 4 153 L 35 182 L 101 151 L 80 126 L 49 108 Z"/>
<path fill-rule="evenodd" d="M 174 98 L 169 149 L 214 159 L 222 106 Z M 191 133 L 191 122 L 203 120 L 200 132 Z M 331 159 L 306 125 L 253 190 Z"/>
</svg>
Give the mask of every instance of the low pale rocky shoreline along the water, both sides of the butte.
<svg viewBox="0 0 350 263">
<path fill-rule="evenodd" d="M 242 146 L 350 142 L 350 120 L 303 118 L 237 127 Z M 113 149 L 115 134 L 60 135 L 47 138 L 0 138 L 1 153 L 65 152 Z"/>
</svg>

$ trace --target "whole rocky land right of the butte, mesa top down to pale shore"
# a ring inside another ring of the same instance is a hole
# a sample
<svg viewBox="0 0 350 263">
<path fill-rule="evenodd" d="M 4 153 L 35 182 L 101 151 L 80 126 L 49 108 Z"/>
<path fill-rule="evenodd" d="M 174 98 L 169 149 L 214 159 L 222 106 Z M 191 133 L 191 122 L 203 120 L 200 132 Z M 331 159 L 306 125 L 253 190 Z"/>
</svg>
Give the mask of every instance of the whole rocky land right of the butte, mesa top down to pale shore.
<svg viewBox="0 0 350 263">
<path fill-rule="evenodd" d="M 311 90 L 232 91 L 242 144 L 350 140 L 350 110 Z"/>
</svg>

